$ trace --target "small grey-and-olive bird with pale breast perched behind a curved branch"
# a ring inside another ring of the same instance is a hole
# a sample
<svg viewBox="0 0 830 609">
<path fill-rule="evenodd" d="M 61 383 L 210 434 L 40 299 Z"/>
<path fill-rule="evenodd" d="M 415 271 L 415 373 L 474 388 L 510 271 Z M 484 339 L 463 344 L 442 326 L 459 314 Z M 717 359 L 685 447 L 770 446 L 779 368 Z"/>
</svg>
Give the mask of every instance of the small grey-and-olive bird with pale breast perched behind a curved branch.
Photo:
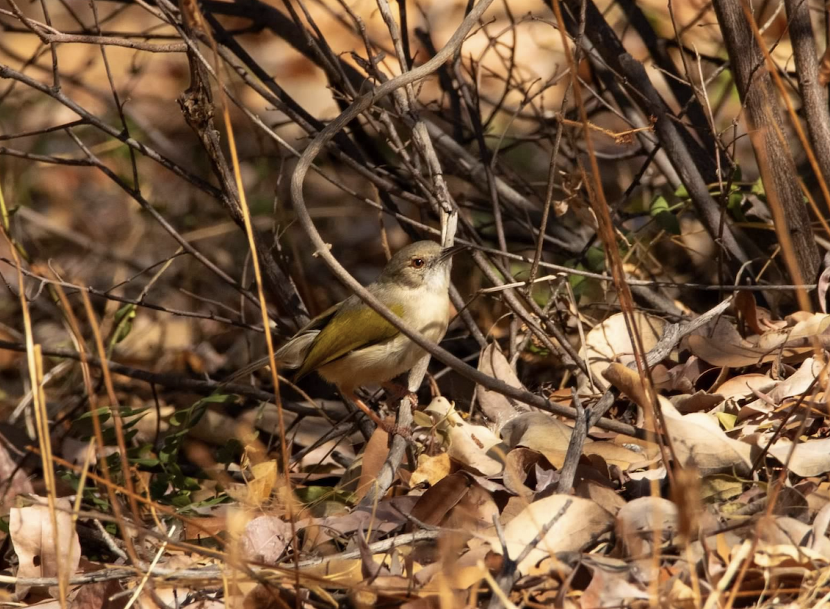
<svg viewBox="0 0 830 609">
<path fill-rule="evenodd" d="M 456 251 L 434 241 L 417 241 L 392 256 L 366 289 L 410 327 L 438 343 L 449 322 L 450 267 Z M 275 359 L 281 368 L 297 369 L 295 380 L 316 371 L 379 422 L 354 396 L 354 390 L 388 382 L 413 368 L 425 354 L 357 295 L 351 295 L 300 329 L 276 351 Z M 267 358 L 260 360 L 254 369 L 266 363 Z"/>
</svg>

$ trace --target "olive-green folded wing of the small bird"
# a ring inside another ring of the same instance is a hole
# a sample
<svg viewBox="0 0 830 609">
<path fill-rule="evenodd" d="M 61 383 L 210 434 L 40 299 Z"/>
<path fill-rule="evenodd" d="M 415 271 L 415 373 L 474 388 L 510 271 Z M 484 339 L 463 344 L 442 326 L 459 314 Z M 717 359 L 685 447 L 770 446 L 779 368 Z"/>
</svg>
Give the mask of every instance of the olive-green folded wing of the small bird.
<svg viewBox="0 0 830 609">
<path fill-rule="evenodd" d="M 403 315 L 403 305 L 393 305 L 389 308 L 398 317 Z M 320 334 L 317 334 L 303 365 L 297 371 L 296 378 L 334 362 L 335 359 L 342 358 L 356 349 L 382 343 L 397 335 L 398 329 L 368 305 L 341 307 L 325 328 L 320 330 Z"/>
</svg>

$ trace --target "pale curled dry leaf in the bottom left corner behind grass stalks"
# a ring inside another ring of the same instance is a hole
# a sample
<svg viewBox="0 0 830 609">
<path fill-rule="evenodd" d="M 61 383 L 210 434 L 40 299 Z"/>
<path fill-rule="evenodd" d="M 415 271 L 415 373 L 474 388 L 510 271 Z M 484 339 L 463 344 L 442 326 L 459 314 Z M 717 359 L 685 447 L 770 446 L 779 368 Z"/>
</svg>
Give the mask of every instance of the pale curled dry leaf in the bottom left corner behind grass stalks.
<svg viewBox="0 0 830 609">
<path fill-rule="evenodd" d="M 72 523 L 72 503 L 69 499 L 55 500 L 57 530 L 52 526 L 45 497 L 36 497 L 42 503 L 9 512 L 8 529 L 17 553 L 17 577 L 66 577 L 73 575 L 81 561 L 81 543 Z M 29 587 L 17 584 L 17 597 L 26 597 Z M 57 598 L 58 587 L 50 587 Z"/>
</svg>

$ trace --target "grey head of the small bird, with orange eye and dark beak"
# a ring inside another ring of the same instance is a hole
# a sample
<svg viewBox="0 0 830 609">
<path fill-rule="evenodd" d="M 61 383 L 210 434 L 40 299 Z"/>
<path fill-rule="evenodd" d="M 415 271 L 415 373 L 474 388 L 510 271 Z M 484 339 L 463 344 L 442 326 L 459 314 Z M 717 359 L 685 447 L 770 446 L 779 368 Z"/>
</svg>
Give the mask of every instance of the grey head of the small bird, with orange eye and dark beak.
<svg viewBox="0 0 830 609">
<path fill-rule="evenodd" d="M 392 256 L 378 277 L 378 283 L 447 290 L 450 259 L 454 253 L 454 248 L 442 249 L 435 241 L 416 241 Z"/>
</svg>

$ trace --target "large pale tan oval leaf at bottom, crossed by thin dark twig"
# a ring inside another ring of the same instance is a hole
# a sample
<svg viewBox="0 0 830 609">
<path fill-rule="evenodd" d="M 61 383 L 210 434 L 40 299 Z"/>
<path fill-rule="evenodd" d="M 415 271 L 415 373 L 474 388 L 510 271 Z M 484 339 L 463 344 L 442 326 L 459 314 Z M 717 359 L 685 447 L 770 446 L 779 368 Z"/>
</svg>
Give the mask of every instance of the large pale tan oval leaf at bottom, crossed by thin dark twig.
<svg viewBox="0 0 830 609">
<path fill-rule="evenodd" d="M 560 514 L 560 510 L 564 512 Z M 582 551 L 606 532 L 613 522 L 611 514 L 590 499 L 573 495 L 545 497 L 522 509 L 505 525 L 504 535 L 510 557 L 518 557 L 542 528 L 554 519 L 554 525 L 541 542 L 519 563 L 519 572 L 528 572 L 535 563 L 554 553 Z M 501 553 L 499 539 L 492 537 L 489 541 L 493 552 Z"/>
</svg>

